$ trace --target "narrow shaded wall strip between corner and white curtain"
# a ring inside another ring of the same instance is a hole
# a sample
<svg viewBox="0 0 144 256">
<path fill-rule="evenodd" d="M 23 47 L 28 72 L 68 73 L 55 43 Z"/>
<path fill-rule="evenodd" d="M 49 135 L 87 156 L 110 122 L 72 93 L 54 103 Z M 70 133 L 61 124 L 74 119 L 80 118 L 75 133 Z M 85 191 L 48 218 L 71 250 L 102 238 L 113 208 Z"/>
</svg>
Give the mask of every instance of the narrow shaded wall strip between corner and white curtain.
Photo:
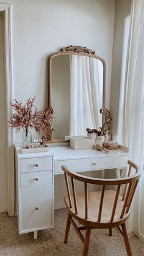
<svg viewBox="0 0 144 256">
<path fill-rule="evenodd" d="M 123 56 L 124 19 L 131 13 L 131 0 L 115 1 L 115 29 L 113 34 L 112 83 L 110 90 L 110 111 L 112 112 L 112 133 L 117 134 L 118 107 L 121 84 L 121 63 Z"/>
</svg>

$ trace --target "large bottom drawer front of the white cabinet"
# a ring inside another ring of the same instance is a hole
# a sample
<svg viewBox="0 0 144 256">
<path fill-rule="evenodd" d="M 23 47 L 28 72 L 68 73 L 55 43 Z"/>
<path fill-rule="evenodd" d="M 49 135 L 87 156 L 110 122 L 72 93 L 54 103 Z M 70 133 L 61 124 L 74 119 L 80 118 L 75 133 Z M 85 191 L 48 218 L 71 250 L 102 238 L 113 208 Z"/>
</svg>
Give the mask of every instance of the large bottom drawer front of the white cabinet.
<svg viewBox="0 0 144 256">
<path fill-rule="evenodd" d="M 52 185 L 21 188 L 20 232 L 51 227 L 52 216 Z"/>
</svg>

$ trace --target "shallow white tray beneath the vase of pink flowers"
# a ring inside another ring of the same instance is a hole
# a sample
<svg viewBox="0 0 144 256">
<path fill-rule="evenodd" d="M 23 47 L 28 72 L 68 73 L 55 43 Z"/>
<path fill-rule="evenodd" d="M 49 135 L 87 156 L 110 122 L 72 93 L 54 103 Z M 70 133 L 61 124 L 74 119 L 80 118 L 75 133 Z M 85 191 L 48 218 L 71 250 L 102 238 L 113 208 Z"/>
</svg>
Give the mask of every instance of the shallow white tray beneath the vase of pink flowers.
<svg viewBox="0 0 144 256">
<path fill-rule="evenodd" d="M 48 152 L 49 146 L 48 144 L 41 145 L 21 145 L 21 153 L 37 153 L 37 152 Z"/>
</svg>

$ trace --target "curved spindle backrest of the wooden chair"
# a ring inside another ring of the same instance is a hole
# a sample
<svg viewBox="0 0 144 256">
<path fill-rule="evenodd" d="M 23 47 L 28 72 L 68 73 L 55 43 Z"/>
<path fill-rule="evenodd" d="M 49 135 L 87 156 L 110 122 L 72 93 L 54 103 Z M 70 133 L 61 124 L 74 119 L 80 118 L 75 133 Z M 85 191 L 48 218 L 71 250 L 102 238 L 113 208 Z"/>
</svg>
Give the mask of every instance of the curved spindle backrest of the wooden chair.
<svg viewBox="0 0 144 256">
<path fill-rule="evenodd" d="M 100 202 L 99 202 L 99 210 L 98 210 L 98 222 L 100 222 L 101 221 L 101 213 L 103 210 L 103 200 L 104 200 L 104 192 L 106 191 L 106 186 L 112 186 L 112 185 L 117 186 L 117 191 L 115 193 L 115 199 L 113 200 L 112 214 L 110 216 L 110 222 L 112 222 L 115 217 L 115 211 L 116 211 L 116 207 L 117 207 L 120 188 L 122 185 L 124 185 L 124 192 L 123 192 L 123 197 L 122 197 L 123 207 L 122 207 L 121 213 L 120 213 L 120 219 L 122 219 L 124 216 L 124 213 L 129 212 L 129 208 L 131 207 L 131 202 L 134 197 L 135 189 L 137 188 L 137 183 L 139 182 L 139 178 L 141 176 L 140 168 L 139 168 L 139 166 L 137 166 L 137 164 L 133 163 L 132 161 L 128 161 L 128 165 L 129 165 L 128 177 L 116 178 L 116 179 L 102 179 L 102 178 L 86 177 L 84 175 L 72 172 L 66 166 L 62 166 L 62 170 L 65 174 L 65 181 L 66 181 L 66 185 L 67 185 L 68 200 L 69 200 L 70 208 L 73 207 L 72 203 L 74 203 L 75 214 L 78 214 L 76 188 L 75 188 L 74 180 L 78 180 L 78 181 L 81 181 L 82 183 L 84 183 L 85 219 L 88 218 L 88 184 L 102 185 L 101 197 L 100 197 Z M 131 175 L 132 169 L 134 169 L 134 172 L 135 172 L 134 175 Z M 70 192 L 68 177 L 70 177 L 70 179 L 71 179 L 73 202 L 71 200 L 71 192 Z"/>
</svg>

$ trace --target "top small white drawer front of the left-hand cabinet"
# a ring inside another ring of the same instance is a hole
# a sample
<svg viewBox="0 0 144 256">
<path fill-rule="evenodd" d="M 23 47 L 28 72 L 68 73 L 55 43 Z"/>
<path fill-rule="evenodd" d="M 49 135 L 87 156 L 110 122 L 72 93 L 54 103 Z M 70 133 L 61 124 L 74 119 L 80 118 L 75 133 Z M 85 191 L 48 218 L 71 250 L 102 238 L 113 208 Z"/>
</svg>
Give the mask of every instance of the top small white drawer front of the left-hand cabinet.
<svg viewBox="0 0 144 256">
<path fill-rule="evenodd" d="M 20 159 L 21 173 L 40 170 L 52 170 L 52 157 Z"/>
</svg>

